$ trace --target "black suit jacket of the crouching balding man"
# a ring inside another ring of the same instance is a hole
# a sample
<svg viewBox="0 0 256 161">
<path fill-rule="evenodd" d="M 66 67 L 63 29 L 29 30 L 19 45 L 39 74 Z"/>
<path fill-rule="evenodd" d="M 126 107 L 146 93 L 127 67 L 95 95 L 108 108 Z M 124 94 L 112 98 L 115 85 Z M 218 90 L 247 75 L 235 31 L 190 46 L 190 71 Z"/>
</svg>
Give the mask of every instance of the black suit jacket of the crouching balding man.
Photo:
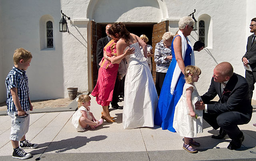
<svg viewBox="0 0 256 161">
<path fill-rule="evenodd" d="M 252 105 L 248 95 L 248 88 L 248 83 L 245 78 L 234 73 L 225 87 L 229 92 L 222 95 L 220 83 L 215 82 L 214 78 L 212 78 L 208 92 L 201 96 L 201 98 L 204 104 L 207 104 L 207 111 L 209 114 L 237 111 L 250 118 L 252 116 Z M 210 101 L 217 94 L 220 100 L 218 103 L 211 104 Z"/>
</svg>

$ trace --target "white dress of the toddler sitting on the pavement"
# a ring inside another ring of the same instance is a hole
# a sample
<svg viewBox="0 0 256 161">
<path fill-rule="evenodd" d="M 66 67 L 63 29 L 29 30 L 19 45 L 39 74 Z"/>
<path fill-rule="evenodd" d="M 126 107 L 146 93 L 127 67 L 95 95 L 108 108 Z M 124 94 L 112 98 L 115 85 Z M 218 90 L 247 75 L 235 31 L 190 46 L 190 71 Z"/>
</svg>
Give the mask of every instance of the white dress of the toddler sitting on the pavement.
<svg viewBox="0 0 256 161">
<path fill-rule="evenodd" d="M 87 110 L 84 106 L 81 106 L 80 108 L 78 108 L 78 110 L 76 110 L 76 112 L 72 116 L 72 124 L 75 126 L 76 131 L 78 131 L 78 132 L 84 132 L 85 131 L 85 129 L 82 128 L 82 126 L 80 125 L 80 121 L 79 121 L 80 118 L 83 116 L 81 110 L 86 112 L 87 118 L 89 120 L 92 120 L 92 116 L 90 115 L 89 110 Z M 87 125 L 86 128 L 88 128 L 88 127 L 89 127 L 89 125 Z"/>
</svg>

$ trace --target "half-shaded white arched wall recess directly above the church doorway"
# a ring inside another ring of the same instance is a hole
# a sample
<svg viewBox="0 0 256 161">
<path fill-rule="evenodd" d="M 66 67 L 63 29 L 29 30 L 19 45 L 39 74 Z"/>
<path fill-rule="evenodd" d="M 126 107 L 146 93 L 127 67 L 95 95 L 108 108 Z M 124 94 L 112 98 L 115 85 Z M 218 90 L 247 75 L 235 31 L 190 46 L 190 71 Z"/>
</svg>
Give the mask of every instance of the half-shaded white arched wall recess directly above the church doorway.
<svg viewBox="0 0 256 161">
<path fill-rule="evenodd" d="M 159 22 L 163 15 L 157 0 L 98 0 L 89 10 L 95 22 Z"/>
</svg>

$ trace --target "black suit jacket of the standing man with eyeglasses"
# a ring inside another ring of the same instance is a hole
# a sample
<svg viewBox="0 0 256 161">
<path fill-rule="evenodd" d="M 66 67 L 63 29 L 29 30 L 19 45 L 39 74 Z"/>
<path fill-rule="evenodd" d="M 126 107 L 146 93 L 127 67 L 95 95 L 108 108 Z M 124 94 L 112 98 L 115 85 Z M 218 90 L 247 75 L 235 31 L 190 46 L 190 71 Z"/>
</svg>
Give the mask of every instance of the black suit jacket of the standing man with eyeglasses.
<svg viewBox="0 0 256 161">
<path fill-rule="evenodd" d="M 253 34 L 248 37 L 246 53 L 243 57 L 246 57 L 249 61 L 249 65 L 252 71 L 256 71 L 256 41 L 252 44 Z"/>
</svg>

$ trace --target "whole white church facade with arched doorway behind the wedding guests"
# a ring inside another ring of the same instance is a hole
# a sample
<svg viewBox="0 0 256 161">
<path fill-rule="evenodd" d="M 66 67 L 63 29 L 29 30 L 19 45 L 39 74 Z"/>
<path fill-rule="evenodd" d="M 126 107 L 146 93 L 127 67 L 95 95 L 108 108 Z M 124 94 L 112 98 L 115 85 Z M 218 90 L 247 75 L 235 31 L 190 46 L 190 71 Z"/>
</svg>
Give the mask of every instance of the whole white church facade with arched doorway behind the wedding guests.
<svg viewBox="0 0 256 161">
<path fill-rule="evenodd" d="M 70 87 L 93 90 L 94 47 L 106 24 L 123 22 L 138 36 L 147 32 L 153 44 L 155 24 L 166 22 L 166 31 L 176 33 L 179 19 L 194 9 L 197 30 L 188 38 L 192 44 L 198 39 L 206 43 L 203 51 L 195 52 L 196 66 L 202 70 L 196 86 L 204 94 L 214 67 L 222 61 L 244 76 L 241 59 L 251 35 L 250 20 L 256 17 L 254 8 L 254 0 L 0 0 L 0 102 L 6 100 L 4 82 L 17 48 L 33 56 L 27 70 L 31 100 L 67 98 Z M 59 32 L 61 10 L 70 17 L 69 32 Z"/>
</svg>

